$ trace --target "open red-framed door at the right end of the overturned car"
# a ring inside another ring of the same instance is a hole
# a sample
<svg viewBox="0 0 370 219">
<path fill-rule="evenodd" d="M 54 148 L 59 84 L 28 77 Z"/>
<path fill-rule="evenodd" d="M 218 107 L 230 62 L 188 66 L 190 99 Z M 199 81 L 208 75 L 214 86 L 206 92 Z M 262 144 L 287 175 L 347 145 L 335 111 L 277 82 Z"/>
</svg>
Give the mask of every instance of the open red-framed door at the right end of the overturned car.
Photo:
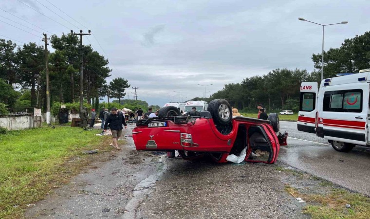
<svg viewBox="0 0 370 219">
<path fill-rule="evenodd" d="M 274 164 L 280 145 L 274 129 L 269 124 L 253 125 L 247 131 L 247 162 Z"/>
</svg>

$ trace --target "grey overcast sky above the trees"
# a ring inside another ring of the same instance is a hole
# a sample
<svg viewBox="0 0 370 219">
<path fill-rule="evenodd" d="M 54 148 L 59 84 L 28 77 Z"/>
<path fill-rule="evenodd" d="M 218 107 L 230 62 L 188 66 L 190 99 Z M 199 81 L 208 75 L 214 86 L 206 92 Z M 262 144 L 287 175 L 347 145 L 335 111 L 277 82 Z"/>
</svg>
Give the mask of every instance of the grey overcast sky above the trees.
<svg viewBox="0 0 370 219">
<path fill-rule="evenodd" d="M 2 0 L 0 34 L 43 43 L 39 32 L 87 33 L 48 1 L 92 30 L 94 37 L 84 37 L 84 44 L 109 58 L 108 81 L 128 79 L 131 87 L 139 87 L 138 99 L 160 106 L 173 101 L 171 96 L 179 100 L 174 91 L 184 100 L 203 96 L 198 84 L 213 84 L 207 87 L 209 96 L 226 83 L 276 68 L 313 71 L 311 55 L 321 53 L 322 28 L 298 17 L 322 24 L 348 21 L 325 29 L 325 50 L 370 27 L 368 0 Z"/>
</svg>

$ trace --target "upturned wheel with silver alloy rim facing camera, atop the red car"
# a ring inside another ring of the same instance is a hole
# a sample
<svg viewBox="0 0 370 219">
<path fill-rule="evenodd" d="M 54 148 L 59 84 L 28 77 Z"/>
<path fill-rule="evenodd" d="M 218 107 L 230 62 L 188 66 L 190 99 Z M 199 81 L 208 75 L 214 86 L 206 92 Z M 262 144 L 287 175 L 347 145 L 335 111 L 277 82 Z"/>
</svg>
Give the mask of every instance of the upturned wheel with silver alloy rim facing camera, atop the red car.
<svg viewBox="0 0 370 219">
<path fill-rule="evenodd" d="M 215 99 L 209 102 L 208 111 L 216 125 L 228 125 L 233 118 L 231 106 L 225 99 Z"/>
</svg>

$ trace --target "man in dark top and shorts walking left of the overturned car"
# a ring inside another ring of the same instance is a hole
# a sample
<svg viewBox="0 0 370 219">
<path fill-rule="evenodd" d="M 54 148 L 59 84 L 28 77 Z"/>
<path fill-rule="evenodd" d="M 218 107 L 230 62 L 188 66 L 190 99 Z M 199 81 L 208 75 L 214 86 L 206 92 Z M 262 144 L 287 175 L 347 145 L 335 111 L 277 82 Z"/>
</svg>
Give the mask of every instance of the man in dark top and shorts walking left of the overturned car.
<svg viewBox="0 0 370 219">
<path fill-rule="evenodd" d="M 107 120 L 105 121 L 104 124 L 104 131 L 107 130 L 108 124 L 112 132 L 113 138 L 112 146 L 116 149 L 121 149 L 121 147 L 118 146 L 117 139 L 119 139 L 119 137 L 121 137 L 122 135 L 122 124 L 125 126 L 125 129 L 127 128 L 127 124 L 125 121 L 125 117 L 117 112 L 117 108 L 111 109 L 111 115 L 107 117 Z"/>
</svg>

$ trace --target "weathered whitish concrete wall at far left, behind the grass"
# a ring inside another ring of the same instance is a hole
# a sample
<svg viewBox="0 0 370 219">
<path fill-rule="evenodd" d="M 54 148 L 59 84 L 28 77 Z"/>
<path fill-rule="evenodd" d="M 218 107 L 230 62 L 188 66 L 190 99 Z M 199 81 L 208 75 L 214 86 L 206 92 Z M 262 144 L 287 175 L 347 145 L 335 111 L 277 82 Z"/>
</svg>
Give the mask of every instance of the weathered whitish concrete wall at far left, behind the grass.
<svg viewBox="0 0 370 219">
<path fill-rule="evenodd" d="M 8 130 L 34 128 L 34 114 L 0 117 L 0 126 Z"/>
</svg>

